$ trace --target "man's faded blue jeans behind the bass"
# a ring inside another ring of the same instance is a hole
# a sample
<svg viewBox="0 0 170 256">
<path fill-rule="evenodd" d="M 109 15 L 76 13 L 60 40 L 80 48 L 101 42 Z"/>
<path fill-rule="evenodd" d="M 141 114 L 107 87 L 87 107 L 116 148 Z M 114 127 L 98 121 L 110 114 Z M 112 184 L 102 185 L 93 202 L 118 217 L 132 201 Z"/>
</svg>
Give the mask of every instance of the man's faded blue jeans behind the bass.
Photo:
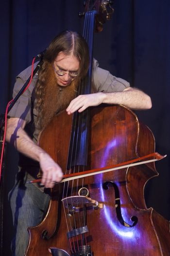
<svg viewBox="0 0 170 256">
<path fill-rule="evenodd" d="M 45 216 L 50 196 L 33 184 L 26 183 L 27 175 L 17 174 L 16 184 L 9 193 L 15 235 L 12 240 L 12 256 L 24 256 L 28 242 L 28 227 L 39 224 Z"/>
</svg>

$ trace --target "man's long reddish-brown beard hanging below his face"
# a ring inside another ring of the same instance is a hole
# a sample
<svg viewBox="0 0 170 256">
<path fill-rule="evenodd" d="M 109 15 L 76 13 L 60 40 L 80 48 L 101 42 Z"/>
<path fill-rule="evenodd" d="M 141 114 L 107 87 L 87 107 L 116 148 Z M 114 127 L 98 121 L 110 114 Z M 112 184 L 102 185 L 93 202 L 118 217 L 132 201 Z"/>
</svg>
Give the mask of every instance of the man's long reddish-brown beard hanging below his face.
<svg viewBox="0 0 170 256">
<path fill-rule="evenodd" d="M 66 87 L 58 85 L 51 65 L 49 65 L 46 72 L 45 81 L 44 108 L 40 120 L 41 129 L 44 129 L 57 113 L 68 107 L 70 101 L 75 98 L 78 87 L 76 79 Z"/>
</svg>

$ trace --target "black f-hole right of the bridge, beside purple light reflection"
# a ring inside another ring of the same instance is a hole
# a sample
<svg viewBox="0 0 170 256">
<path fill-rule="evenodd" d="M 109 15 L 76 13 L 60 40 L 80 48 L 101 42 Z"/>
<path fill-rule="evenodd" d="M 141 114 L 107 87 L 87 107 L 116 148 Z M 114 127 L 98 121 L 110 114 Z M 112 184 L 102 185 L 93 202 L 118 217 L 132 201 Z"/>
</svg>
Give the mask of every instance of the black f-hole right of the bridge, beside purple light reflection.
<svg viewBox="0 0 170 256">
<path fill-rule="evenodd" d="M 127 222 L 124 221 L 124 219 L 121 215 L 121 204 L 120 204 L 120 195 L 119 195 L 118 186 L 114 182 L 108 181 L 108 182 L 103 183 L 103 189 L 107 190 L 109 188 L 108 187 L 109 183 L 112 184 L 112 186 L 114 187 L 114 190 L 115 190 L 115 208 L 116 208 L 116 213 L 117 213 L 117 217 L 119 219 L 119 222 L 125 227 L 128 227 L 128 228 L 134 227 L 137 224 L 137 221 L 138 221 L 138 218 L 136 216 L 132 216 L 130 218 L 130 220 L 133 222 L 133 224 L 130 225 Z"/>
</svg>

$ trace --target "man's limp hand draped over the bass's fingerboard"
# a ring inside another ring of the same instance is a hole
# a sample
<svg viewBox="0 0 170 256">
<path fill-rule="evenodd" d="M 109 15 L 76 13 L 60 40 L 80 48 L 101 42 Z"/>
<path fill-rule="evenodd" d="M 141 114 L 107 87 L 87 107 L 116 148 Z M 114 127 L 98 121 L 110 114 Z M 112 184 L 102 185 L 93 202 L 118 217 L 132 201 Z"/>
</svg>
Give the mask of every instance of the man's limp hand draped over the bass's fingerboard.
<svg viewBox="0 0 170 256">
<path fill-rule="evenodd" d="M 105 94 L 103 93 L 93 93 L 87 95 L 79 95 L 77 98 L 74 98 L 66 111 L 68 115 L 74 113 L 78 110 L 78 112 L 83 112 L 87 107 L 98 106 L 103 102 L 105 98 Z"/>
</svg>

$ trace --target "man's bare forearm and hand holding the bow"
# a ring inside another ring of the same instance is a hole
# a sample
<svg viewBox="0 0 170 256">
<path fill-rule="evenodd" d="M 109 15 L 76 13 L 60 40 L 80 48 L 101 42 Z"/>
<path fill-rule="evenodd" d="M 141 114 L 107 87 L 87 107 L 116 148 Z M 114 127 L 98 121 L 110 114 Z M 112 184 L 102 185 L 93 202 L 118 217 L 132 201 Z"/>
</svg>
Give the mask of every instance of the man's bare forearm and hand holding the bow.
<svg viewBox="0 0 170 256">
<path fill-rule="evenodd" d="M 62 179 L 62 170 L 49 154 L 29 138 L 23 130 L 24 126 L 25 121 L 22 119 L 10 118 L 7 122 L 6 141 L 12 143 L 25 156 L 39 162 L 43 173 L 41 183 L 47 188 L 52 188 L 55 182 Z"/>
</svg>

